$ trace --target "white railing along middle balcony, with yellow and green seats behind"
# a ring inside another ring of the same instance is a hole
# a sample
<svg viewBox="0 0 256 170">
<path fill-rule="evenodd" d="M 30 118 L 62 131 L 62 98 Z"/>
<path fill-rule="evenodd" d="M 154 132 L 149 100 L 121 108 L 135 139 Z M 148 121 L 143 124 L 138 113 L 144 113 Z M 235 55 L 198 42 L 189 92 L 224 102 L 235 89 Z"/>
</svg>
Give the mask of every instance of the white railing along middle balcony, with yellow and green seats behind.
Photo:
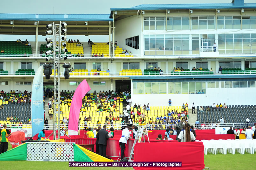
<svg viewBox="0 0 256 170">
<path fill-rule="evenodd" d="M 159 71 L 120 71 L 120 72 L 70 72 L 70 77 L 130 77 L 130 76 L 194 76 L 194 75 L 226 75 L 226 74 L 256 74 L 256 70 L 236 70 L 236 71 L 169 71 L 169 72 L 159 72 Z M 35 75 L 35 72 L 17 72 L 17 71 L 0 71 L 0 75 L 3 76 L 31 76 Z M 53 75 L 53 74 L 52 74 Z M 64 77 L 64 72 L 60 72 L 60 76 Z"/>
</svg>

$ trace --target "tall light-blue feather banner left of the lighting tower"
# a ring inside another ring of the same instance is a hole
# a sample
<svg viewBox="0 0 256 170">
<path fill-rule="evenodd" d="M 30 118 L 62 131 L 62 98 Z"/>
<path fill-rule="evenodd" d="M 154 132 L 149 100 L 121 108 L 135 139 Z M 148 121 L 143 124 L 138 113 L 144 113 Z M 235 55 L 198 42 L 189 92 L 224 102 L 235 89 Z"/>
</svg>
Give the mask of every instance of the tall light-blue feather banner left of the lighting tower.
<svg viewBox="0 0 256 170">
<path fill-rule="evenodd" d="M 32 84 L 31 95 L 31 122 L 32 137 L 44 129 L 44 94 L 43 94 L 43 70 L 44 66 L 40 66 L 35 73 Z"/>
</svg>

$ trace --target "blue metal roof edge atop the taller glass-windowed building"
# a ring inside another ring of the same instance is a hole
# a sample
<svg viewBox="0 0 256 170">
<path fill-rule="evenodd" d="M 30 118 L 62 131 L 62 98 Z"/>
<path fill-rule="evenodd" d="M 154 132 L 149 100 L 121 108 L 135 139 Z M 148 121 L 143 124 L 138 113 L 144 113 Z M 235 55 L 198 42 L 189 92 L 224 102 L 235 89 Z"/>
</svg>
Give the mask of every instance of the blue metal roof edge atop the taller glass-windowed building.
<svg viewBox="0 0 256 170">
<path fill-rule="evenodd" d="M 110 8 L 111 11 L 132 10 L 184 10 L 184 9 L 236 9 L 256 8 L 256 4 L 234 5 L 230 4 L 143 4 L 132 8 Z"/>
</svg>

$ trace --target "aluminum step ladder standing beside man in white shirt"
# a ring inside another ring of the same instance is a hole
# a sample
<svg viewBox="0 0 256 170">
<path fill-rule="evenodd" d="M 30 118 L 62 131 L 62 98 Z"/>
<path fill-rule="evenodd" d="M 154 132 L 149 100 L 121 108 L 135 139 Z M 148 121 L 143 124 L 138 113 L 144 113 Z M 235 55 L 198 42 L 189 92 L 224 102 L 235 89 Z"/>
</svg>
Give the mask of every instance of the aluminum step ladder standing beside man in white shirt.
<svg viewBox="0 0 256 170">
<path fill-rule="evenodd" d="M 131 153 L 130 153 L 130 156 L 129 156 L 129 159 L 128 159 L 129 162 L 133 161 L 132 159 L 133 159 L 133 155 L 134 155 L 134 146 L 137 143 L 137 141 L 138 141 L 138 143 L 141 142 L 142 137 L 143 137 L 143 142 L 146 142 L 145 137 L 147 137 L 147 140 L 149 142 L 148 131 L 147 131 L 146 124 L 139 124 L 139 128 L 137 130 L 137 133 L 136 133 L 133 145 L 132 145 L 132 150 L 131 150 Z"/>
</svg>

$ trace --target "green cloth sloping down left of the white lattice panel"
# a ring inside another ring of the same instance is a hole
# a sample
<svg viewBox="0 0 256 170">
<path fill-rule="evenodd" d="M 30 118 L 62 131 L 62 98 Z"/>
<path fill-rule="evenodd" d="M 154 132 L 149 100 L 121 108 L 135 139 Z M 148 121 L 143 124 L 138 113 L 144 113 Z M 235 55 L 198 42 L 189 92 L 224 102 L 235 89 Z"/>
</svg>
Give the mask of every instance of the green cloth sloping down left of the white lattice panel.
<svg viewBox="0 0 256 170">
<path fill-rule="evenodd" d="M 7 152 L 0 154 L 0 161 L 27 160 L 27 144 L 19 145 Z"/>
</svg>

